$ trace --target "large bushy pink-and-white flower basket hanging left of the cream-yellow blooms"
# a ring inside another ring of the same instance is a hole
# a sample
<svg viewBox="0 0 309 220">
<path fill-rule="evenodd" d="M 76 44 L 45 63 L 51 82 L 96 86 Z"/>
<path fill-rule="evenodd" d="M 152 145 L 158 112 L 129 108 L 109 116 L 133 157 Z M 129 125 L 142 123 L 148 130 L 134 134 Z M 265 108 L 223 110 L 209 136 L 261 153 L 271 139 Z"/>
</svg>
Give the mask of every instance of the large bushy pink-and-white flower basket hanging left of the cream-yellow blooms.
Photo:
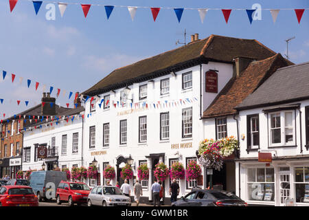
<svg viewBox="0 0 309 220">
<path fill-rule="evenodd" d="M 215 140 L 203 140 L 198 147 L 198 154 L 201 157 L 198 162 L 206 168 L 214 168 L 220 171 L 222 168 L 222 155 L 220 154 L 220 141 Z"/>
</svg>

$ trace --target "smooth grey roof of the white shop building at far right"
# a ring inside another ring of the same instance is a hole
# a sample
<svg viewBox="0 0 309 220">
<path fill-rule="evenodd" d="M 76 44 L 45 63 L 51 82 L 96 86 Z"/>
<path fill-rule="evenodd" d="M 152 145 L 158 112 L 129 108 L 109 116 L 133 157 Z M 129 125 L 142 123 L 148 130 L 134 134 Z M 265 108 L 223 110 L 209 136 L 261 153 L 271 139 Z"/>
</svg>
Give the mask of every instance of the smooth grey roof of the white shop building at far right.
<svg viewBox="0 0 309 220">
<path fill-rule="evenodd" d="M 237 106 L 252 109 L 309 100 L 309 62 L 277 69 L 253 94 Z"/>
</svg>

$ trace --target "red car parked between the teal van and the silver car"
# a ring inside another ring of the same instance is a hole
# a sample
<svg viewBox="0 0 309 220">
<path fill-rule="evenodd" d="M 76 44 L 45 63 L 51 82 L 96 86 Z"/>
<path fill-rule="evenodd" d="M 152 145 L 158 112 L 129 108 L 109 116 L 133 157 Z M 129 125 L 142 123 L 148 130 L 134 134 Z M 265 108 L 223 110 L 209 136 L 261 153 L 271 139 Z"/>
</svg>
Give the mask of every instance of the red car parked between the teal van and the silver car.
<svg viewBox="0 0 309 220">
<path fill-rule="evenodd" d="M 60 205 L 62 201 L 67 201 L 69 206 L 87 203 L 89 192 L 90 188 L 83 182 L 60 181 L 56 192 L 57 204 Z"/>
</svg>

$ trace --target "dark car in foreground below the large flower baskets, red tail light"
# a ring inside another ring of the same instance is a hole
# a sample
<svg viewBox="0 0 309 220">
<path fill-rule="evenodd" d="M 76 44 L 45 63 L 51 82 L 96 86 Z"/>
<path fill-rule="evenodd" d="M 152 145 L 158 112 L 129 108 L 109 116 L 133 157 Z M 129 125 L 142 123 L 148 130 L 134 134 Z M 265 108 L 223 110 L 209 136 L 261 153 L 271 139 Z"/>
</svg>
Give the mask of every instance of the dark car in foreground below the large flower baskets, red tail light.
<svg viewBox="0 0 309 220">
<path fill-rule="evenodd" d="M 225 190 L 194 189 L 172 206 L 248 206 L 246 202 Z"/>
</svg>

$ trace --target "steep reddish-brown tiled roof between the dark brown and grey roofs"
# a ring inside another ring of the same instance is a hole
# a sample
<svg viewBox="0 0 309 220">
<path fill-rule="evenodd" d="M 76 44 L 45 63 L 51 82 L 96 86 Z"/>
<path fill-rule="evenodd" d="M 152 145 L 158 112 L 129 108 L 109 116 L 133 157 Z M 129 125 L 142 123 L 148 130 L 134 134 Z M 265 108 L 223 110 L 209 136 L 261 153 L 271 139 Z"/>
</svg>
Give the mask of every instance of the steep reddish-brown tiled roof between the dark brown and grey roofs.
<svg viewBox="0 0 309 220">
<path fill-rule="evenodd" d="M 233 77 L 204 111 L 203 118 L 214 118 L 236 113 L 234 109 L 257 89 L 278 68 L 289 65 L 281 54 L 248 65 L 238 78 Z"/>
</svg>

